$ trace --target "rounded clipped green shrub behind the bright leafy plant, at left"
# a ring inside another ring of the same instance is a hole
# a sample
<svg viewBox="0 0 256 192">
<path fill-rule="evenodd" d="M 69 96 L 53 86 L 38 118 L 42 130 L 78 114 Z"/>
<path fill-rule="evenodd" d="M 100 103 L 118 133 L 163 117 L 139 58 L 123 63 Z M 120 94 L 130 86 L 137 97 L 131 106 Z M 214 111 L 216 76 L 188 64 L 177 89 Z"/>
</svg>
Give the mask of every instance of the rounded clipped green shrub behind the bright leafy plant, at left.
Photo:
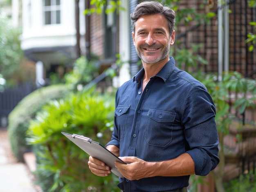
<svg viewBox="0 0 256 192">
<path fill-rule="evenodd" d="M 65 85 L 53 85 L 37 89 L 24 97 L 8 116 L 8 133 L 13 154 L 24 161 L 23 154 L 31 150 L 25 141 L 29 121 L 52 99 L 64 97 L 69 90 Z"/>
</svg>

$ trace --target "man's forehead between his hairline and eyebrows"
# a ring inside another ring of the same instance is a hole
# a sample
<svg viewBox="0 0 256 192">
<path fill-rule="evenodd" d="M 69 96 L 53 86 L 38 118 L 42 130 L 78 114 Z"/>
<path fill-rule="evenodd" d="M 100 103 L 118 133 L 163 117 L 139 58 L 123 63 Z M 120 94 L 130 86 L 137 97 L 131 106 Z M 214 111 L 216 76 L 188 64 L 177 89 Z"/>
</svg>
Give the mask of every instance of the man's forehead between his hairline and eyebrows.
<svg viewBox="0 0 256 192">
<path fill-rule="evenodd" d="M 138 18 L 135 25 L 135 31 L 141 29 L 165 29 L 168 31 L 168 22 L 162 14 L 144 15 Z"/>
</svg>

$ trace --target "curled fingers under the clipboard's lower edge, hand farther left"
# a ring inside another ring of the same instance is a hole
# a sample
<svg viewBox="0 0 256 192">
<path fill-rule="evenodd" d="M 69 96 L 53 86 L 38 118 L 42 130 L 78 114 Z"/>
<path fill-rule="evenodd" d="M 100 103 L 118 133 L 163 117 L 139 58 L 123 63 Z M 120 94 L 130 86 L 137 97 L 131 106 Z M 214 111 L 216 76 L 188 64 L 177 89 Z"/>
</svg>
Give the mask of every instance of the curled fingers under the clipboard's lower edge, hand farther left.
<svg viewBox="0 0 256 192">
<path fill-rule="evenodd" d="M 91 172 L 97 176 L 106 177 L 111 173 L 109 166 L 91 156 L 89 157 L 88 166 Z"/>
</svg>

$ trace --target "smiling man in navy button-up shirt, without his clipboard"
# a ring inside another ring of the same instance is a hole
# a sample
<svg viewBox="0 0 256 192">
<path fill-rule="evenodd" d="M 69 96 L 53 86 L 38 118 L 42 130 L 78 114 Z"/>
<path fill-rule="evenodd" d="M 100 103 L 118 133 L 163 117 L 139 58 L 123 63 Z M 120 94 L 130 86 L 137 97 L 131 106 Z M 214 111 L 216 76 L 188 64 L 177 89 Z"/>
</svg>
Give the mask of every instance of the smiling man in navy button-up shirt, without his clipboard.
<svg viewBox="0 0 256 192">
<path fill-rule="evenodd" d="M 116 162 L 125 192 L 186 191 L 189 175 L 216 168 L 216 109 L 207 88 L 175 67 L 175 13 L 159 2 L 142 2 L 131 14 L 133 43 L 143 68 L 116 95 L 115 128 L 106 148 Z M 110 174 L 89 158 L 92 173 Z"/>
</svg>

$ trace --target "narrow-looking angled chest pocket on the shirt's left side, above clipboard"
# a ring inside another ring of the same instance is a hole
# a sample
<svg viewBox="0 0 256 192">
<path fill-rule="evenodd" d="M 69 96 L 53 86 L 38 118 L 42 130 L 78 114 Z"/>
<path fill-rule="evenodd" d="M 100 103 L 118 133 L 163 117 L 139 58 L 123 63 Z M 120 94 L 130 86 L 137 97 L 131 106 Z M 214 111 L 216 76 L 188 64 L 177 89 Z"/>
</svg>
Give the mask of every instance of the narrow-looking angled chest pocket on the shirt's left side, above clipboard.
<svg viewBox="0 0 256 192">
<path fill-rule="evenodd" d="M 126 124 L 127 124 L 127 113 L 130 105 L 119 105 L 115 110 L 115 121 L 118 127 L 119 141 L 124 139 L 126 134 Z"/>
</svg>

